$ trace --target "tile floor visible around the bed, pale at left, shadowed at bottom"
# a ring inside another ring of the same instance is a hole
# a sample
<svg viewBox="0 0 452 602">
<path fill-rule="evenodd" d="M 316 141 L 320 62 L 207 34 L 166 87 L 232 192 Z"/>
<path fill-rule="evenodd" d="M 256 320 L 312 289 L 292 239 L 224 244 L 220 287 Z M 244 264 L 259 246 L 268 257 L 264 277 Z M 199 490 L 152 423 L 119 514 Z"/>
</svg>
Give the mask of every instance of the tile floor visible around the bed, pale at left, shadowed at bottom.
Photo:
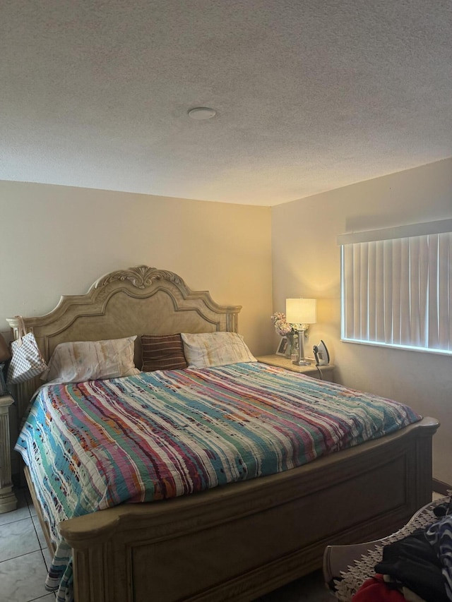
<svg viewBox="0 0 452 602">
<path fill-rule="evenodd" d="M 44 589 L 49 553 L 30 495 L 16 490 L 18 509 L 0 514 L 0 601 L 55 600 Z M 433 494 L 433 498 L 441 497 Z M 20 562 L 18 558 L 20 557 Z M 321 571 L 290 583 L 256 602 L 333 602 Z"/>
</svg>

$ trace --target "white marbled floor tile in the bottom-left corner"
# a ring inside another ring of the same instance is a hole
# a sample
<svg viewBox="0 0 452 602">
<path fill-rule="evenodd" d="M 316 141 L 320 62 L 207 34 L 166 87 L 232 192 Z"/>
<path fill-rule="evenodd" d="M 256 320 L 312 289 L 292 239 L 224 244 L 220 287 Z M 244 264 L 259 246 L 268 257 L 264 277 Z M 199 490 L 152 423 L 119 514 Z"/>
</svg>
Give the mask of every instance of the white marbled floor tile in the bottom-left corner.
<svg viewBox="0 0 452 602">
<path fill-rule="evenodd" d="M 47 601 L 46 575 L 40 551 L 23 555 L 20 562 L 17 558 L 0 562 L 1 602 L 29 602 L 42 596 Z"/>
</svg>

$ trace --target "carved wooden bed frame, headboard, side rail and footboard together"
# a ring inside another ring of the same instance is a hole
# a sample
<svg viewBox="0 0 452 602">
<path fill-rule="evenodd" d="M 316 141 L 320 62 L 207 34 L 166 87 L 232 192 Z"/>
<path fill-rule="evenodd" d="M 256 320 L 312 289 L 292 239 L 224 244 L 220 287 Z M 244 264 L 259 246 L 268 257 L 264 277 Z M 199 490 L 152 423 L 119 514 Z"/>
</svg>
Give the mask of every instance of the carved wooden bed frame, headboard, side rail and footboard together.
<svg viewBox="0 0 452 602">
<path fill-rule="evenodd" d="M 49 359 L 65 341 L 237 332 L 240 309 L 191 291 L 173 272 L 138 266 L 105 275 L 87 294 L 61 297 L 25 326 Z M 8 323 L 16 336 L 17 319 Z M 140 353 L 137 344 L 138 367 Z M 40 384 L 18 387 L 20 415 Z M 68 520 L 60 530 L 73 548 L 76 601 L 251 601 L 302 577 L 321 567 L 327 544 L 391 533 L 431 500 L 438 426 L 425 418 L 280 474 Z"/>
</svg>

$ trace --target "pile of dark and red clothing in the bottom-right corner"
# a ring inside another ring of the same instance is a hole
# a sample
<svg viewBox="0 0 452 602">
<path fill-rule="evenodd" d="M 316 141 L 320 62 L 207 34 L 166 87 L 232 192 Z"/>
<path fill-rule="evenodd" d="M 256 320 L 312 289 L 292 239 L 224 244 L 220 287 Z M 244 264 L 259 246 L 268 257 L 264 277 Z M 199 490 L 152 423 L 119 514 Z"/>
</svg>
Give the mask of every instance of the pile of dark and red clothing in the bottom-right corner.
<svg viewBox="0 0 452 602">
<path fill-rule="evenodd" d="M 452 500 L 438 521 L 383 548 L 352 602 L 452 602 Z"/>
</svg>

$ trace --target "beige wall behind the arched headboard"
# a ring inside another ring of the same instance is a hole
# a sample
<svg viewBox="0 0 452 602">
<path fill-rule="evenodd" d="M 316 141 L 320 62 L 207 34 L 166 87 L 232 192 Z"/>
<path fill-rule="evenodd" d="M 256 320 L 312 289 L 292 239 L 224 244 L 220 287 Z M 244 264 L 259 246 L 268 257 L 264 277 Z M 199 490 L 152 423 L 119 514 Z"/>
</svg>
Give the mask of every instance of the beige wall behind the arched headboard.
<svg viewBox="0 0 452 602">
<path fill-rule="evenodd" d="M 0 331 L 5 318 L 52 310 L 106 272 L 176 272 L 221 304 L 242 305 L 255 354 L 271 332 L 270 208 L 0 181 Z"/>
</svg>

